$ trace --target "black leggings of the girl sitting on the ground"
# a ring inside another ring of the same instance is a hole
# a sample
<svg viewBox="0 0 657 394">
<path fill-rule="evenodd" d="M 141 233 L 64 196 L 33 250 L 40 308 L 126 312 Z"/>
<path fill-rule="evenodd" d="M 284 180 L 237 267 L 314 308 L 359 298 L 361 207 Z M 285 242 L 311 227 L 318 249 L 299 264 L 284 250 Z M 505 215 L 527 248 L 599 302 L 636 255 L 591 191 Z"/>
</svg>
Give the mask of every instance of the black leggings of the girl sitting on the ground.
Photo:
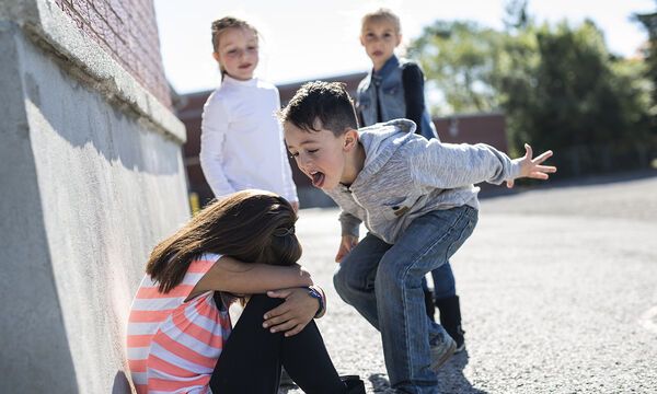
<svg viewBox="0 0 657 394">
<path fill-rule="evenodd" d="M 277 393 L 281 366 L 308 394 L 346 392 L 314 322 L 291 337 L 263 328 L 265 312 L 283 301 L 266 294 L 251 297 L 215 367 L 214 393 Z"/>
</svg>

